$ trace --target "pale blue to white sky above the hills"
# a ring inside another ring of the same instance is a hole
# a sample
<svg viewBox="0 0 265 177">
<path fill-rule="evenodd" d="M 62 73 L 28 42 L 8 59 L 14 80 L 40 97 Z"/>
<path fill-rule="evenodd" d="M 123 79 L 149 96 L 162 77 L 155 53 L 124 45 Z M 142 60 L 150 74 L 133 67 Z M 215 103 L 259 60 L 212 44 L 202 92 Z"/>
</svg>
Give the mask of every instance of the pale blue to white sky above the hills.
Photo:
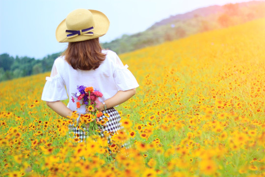
<svg viewBox="0 0 265 177">
<path fill-rule="evenodd" d="M 0 54 L 42 59 L 62 52 L 55 30 L 78 8 L 106 14 L 110 27 L 100 42 L 144 31 L 171 15 L 201 7 L 250 0 L 0 0 Z"/>
</svg>

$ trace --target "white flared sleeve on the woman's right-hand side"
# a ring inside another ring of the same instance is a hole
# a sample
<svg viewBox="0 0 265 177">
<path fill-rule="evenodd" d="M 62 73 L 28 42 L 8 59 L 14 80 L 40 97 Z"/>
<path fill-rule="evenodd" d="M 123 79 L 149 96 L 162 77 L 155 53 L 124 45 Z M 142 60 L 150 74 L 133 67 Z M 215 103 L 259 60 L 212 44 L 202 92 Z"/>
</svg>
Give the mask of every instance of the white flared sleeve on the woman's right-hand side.
<svg viewBox="0 0 265 177">
<path fill-rule="evenodd" d="M 128 65 L 123 65 L 121 59 L 116 55 L 116 67 L 113 78 L 118 90 L 129 90 L 139 87 L 132 72 L 128 69 Z"/>
</svg>

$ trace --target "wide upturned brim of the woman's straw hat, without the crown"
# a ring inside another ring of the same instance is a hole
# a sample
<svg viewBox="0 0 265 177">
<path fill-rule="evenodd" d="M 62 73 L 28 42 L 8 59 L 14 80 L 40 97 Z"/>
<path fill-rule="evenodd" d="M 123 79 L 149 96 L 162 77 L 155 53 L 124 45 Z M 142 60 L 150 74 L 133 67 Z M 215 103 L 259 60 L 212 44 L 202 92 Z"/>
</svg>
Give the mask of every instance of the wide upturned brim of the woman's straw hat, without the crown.
<svg viewBox="0 0 265 177">
<path fill-rule="evenodd" d="M 78 41 L 84 41 L 89 39 L 94 39 L 101 37 L 106 34 L 108 28 L 109 28 L 109 20 L 106 17 L 106 15 L 100 11 L 97 10 L 89 10 L 95 21 L 95 27 L 93 30 L 93 35 L 79 35 L 72 38 L 67 38 L 67 33 L 65 32 L 66 23 L 65 19 L 58 25 L 55 36 L 58 42 L 78 42 Z"/>
</svg>

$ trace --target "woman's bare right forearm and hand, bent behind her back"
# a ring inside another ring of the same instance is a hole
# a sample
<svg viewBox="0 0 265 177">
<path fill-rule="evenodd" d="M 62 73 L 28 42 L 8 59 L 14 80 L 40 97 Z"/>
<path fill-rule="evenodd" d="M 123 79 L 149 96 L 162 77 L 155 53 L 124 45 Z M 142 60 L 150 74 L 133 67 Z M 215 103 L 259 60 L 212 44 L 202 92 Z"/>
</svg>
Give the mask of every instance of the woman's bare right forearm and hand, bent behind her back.
<svg viewBox="0 0 265 177">
<path fill-rule="evenodd" d="M 107 108 L 111 108 L 111 107 L 124 103 L 125 101 L 130 99 L 135 93 L 136 93 L 136 89 L 130 89 L 126 91 L 120 90 L 114 96 L 105 100 L 104 102 Z M 103 111 L 104 105 L 101 103 L 100 105 L 97 106 L 97 109 L 99 111 Z"/>
</svg>

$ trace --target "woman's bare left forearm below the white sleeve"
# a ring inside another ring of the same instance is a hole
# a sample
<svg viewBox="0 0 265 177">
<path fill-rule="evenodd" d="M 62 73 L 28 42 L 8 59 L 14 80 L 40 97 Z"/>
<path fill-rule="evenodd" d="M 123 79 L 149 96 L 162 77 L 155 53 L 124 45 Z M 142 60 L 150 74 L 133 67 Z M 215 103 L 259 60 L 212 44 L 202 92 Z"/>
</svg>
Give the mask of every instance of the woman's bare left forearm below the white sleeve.
<svg viewBox="0 0 265 177">
<path fill-rule="evenodd" d="M 46 104 L 58 115 L 71 119 L 71 116 L 73 114 L 73 111 L 71 111 L 63 102 L 61 101 L 54 101 L 49 102 L 46 101 Z"/>
</svg>

